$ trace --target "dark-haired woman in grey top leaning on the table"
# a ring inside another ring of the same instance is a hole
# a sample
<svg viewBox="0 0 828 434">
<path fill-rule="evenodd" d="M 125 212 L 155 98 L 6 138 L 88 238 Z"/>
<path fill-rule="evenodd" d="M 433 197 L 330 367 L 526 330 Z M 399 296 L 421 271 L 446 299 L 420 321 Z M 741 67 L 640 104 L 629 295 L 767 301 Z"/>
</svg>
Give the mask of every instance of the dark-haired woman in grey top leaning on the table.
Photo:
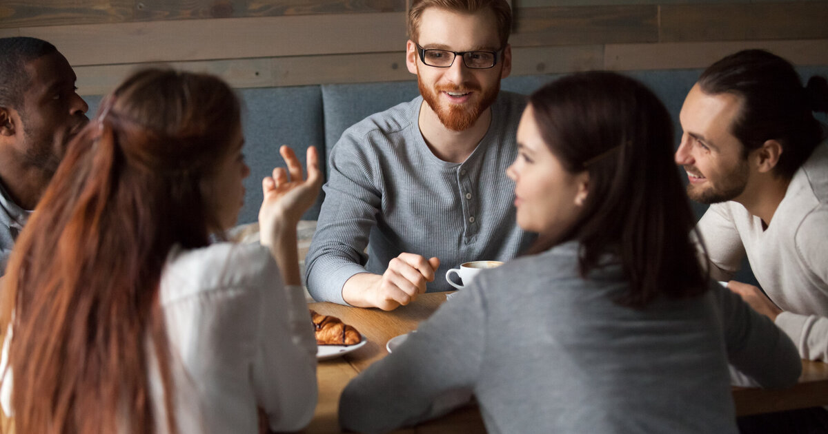
<svg viewBox="0 0 828 434">
<path fill-rule="evenodd" d="M 701 269 L 672 141 L 667 109 L 622 75 L 532 94 L 508 176 L 537 245 L 352 380 L 344 427 L 387 431 L 465 394 L 489 432 L 736 432 L 728 361 L 794 384 L 792 342 Z"/>
</svg>

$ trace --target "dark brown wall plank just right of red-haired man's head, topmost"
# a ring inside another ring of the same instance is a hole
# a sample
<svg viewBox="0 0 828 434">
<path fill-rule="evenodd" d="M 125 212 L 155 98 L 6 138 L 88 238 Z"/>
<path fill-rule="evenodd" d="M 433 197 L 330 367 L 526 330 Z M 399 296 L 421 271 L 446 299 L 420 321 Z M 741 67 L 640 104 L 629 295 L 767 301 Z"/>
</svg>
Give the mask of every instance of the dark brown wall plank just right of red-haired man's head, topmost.
<svg viewBox="0 0 828 434">
<path fill-rule="evenodd" d="M 517 9 L 513 46 L 656 42 L 658 8 L 651 5 Z"/>
</svg>

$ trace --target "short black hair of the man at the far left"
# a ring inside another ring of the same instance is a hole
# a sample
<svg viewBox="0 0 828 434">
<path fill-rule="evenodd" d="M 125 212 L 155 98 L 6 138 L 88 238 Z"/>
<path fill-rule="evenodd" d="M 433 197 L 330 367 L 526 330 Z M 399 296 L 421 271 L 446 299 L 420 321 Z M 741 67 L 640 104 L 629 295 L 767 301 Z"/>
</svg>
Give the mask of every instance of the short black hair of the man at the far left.
<svg viewBox="0 0 828 434">
<path fill-rule="evenodd" d="M 56 51 L 55 45 L 37 38 L 0 38 L 0 107 L 19 108 L 30 79 L 24 65 Z"/>
</svg>

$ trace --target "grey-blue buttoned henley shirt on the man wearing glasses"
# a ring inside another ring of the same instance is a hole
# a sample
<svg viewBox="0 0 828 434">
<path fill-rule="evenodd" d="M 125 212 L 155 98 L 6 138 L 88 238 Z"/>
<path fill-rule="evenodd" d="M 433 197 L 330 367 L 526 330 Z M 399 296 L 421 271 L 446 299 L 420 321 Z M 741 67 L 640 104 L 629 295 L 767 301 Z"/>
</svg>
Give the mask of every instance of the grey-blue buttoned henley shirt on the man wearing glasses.
<svg viewBox="0 0 828 434">
<path fill-rule="evenodd" d="M 431 153 L 418 126 L 421 104 L 417 97 L 373 114 L 330 151 L 325 202 L 305 261 L 316 300 L 344 304 L 345 281 L 383 274 L 402 252 L 440 258 L 427 290 L 447 291 L 448 269 L 509 260 L 532 241 L 517 227 L 514 184 L 506 176 L 526 97 L 498 95 L 489 131 L 463 163 Z"/>
</svg>

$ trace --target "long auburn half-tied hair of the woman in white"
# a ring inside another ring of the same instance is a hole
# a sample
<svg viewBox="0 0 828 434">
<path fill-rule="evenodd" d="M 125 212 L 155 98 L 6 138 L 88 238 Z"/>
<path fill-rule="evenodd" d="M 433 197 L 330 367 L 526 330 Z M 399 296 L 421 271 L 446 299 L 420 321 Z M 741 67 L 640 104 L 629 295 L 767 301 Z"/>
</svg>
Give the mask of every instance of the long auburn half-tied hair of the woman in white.
<svg viewBox="0 0 828 434">
<path fill-rule="evenodd" d="M 172 246 L 219 229 L 207 179 L 239 125 L 220 79 L 147 69 L 70 143 L 2 288 L 16 432 L 154 432 L 147 338 L 176 432 L 161 270 Z"/>
</svg>

